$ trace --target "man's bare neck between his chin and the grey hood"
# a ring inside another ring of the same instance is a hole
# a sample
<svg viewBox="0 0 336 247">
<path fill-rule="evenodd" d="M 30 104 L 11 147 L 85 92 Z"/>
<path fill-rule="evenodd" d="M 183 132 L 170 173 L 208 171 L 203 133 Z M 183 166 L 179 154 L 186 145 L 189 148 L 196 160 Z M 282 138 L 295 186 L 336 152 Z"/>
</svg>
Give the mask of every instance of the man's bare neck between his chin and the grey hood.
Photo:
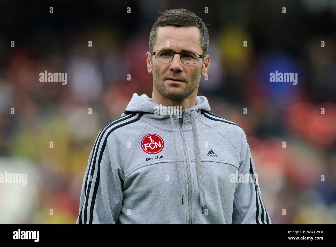
<svg viewBox="0 0 336 247">
<path fill-rule="evenodd" d="M 166 106 L 166 107 L 182 107 L 182 111 L 184 109 L 192 108 L 193 106 L 196 106 L 196 97 L 197 92 L 192 93 L 188 98 L 184 99 L 176 99 L 176 98 L 168 98 L 164 96 L 161 93 L 154 93 L 152 94 L 152 102 Z"/>
</svg>

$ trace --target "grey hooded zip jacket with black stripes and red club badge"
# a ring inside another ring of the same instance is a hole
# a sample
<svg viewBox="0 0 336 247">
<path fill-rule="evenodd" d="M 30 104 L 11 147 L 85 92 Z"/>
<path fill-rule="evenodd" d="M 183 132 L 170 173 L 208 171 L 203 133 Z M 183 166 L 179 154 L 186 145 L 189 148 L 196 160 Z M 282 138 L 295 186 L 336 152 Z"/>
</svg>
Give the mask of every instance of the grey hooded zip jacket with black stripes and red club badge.
<svg viewBox="0 0 336 247">
<path fill-rule="evenodd" d="M 99 132 L 76 223 L 271 223 L 244 130 L 204 96 L 173 110 L 134 93 Z"/>
</svg>

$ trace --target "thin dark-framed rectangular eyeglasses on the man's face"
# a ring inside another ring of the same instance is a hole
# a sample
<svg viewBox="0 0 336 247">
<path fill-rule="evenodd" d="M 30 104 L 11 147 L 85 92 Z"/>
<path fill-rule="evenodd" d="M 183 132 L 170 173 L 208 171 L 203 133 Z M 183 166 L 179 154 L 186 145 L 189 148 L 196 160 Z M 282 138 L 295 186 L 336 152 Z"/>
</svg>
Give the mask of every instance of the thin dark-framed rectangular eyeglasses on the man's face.
<svg viewBox="0 0 336 247">
<path fill-rule="evenodd" d="M 150 51 L 150 53 L 155 56 L 156 60 L 164 63 L 172 61 L 175 54 L 179 54 L 181 61 L 185 64 L 197 64 L 201 57 L 206 56 L 200 55 L 194 51 L 174 52 L 171 50 L 157 50 Z"/>
</svg>

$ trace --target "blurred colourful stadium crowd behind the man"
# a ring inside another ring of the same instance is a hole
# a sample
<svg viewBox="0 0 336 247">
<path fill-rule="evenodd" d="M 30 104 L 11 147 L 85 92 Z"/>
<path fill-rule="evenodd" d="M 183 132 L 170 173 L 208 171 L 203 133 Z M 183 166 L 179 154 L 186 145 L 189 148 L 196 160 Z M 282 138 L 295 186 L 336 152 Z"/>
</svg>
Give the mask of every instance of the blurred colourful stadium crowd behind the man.
<svg viewBox="0 0 336 247">
<path fill-rule="evenodd" d="M 0 183 L 1 223 L 76 222 L 98 132 L 134 92 L 152 95 L 149 34 L 158 11 L 172 8 L 209 29 L 198 95 L 245 130 L 272 223 L 336 223 L 333 0 L 1 1 L 0 173 L 28 180 Z M 297 85 L 270 82 L 276 70 L 297 72 Z M 67 85 L 40 82 L 45 71 L 67 72 Z"/>
</svg>

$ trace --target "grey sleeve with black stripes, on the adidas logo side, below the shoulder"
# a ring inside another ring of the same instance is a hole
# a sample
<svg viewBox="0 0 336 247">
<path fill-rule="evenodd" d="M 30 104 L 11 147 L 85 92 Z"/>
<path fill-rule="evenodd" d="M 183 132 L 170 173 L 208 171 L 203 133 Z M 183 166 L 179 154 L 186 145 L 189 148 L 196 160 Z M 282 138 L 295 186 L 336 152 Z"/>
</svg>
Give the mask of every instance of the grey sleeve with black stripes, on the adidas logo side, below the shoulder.
<svg viewBox="0 0 336 247">
<path fill-rule="evenodd" d="M 250 147 L 244 130 L 241 130 L 241 154 L 238 173 L 250 181 L 237 182 L 233 204 L 232 223 L 271 223 L 261 192 Z M 249 175 L 245 175 L 249 174 Z"/>
</svg>

